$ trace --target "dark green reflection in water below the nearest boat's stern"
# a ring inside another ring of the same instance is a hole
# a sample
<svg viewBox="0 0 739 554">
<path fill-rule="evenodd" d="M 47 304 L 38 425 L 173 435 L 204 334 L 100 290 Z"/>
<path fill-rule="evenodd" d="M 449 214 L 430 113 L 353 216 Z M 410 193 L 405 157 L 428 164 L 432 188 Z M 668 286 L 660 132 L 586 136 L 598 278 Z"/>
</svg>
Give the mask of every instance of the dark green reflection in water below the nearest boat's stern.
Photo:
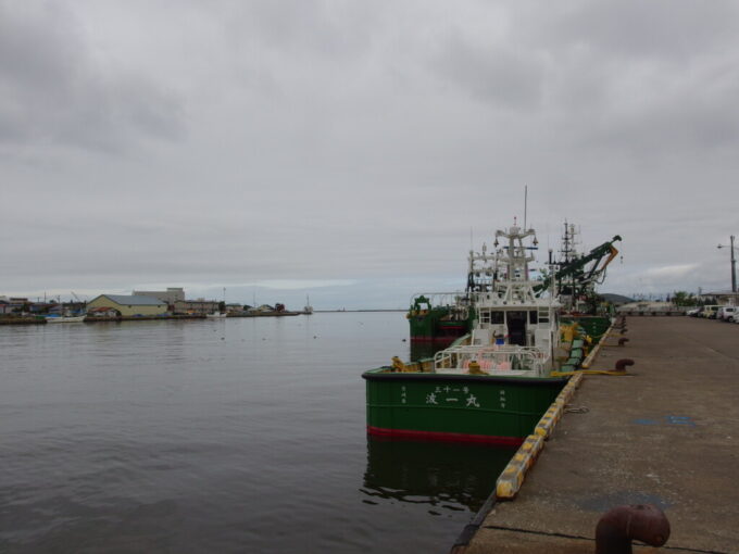
<svg viewBox="0 0 739 554">
<path fill-rule="evenodd" d="M 428 504 L 429 513 L 477 512 L 514 450 L 367 437 L 363 502 Z"/>
</svg>

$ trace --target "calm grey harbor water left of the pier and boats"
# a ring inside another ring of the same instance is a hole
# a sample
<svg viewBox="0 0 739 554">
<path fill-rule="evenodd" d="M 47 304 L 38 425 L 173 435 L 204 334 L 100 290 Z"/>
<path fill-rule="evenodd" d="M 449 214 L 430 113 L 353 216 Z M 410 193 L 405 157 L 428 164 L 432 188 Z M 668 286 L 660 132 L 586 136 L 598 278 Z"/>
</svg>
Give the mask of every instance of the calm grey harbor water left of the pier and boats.
<svg viewBox="0 0 739 554">
<path fill-rule="evenodd" d="M 511 455 L 368 440 L 401 313 L 0 328 L 0 552 L 446 552 Z"/>
</svg>

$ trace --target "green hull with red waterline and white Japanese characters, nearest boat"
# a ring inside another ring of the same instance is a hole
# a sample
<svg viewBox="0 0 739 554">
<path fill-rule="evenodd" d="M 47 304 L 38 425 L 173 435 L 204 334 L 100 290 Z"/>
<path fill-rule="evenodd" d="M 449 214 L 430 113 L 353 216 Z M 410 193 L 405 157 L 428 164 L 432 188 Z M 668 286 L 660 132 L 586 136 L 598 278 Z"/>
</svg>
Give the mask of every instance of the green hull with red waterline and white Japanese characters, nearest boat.
<svg viewBox="0 0 739 554">
<path fill-rule="evenodd" d="M 362 377 L 369 435 L 511 446 L 533 432 L 567 381 L 384 368 Z"/>
</svg>

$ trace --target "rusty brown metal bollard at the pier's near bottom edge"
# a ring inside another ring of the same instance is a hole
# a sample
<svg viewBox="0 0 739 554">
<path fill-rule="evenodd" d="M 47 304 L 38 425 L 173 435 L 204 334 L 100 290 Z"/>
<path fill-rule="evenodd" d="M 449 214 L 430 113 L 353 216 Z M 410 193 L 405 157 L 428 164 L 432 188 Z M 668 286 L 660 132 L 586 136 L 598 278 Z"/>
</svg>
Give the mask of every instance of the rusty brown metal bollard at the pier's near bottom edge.
<svg viewBox="0 0 739 554">
<path fill-rule="evenodd" d="M 652 504 L 618 506 L 596 527 L 596 554 L 631 554 L 631 541 L 662 546 L 669 539 L 669 521 Z"/>
</svg>

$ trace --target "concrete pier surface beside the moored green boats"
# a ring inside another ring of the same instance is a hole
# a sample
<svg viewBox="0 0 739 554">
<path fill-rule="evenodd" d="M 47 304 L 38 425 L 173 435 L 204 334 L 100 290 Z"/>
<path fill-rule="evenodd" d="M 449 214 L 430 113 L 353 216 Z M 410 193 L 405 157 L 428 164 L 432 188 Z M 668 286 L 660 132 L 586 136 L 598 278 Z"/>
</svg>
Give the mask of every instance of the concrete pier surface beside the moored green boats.
<svg viewBox="0 0 739 554">
<path fill-rule="evenodd" d="M 585 377 L 516 499 L 496 502 L 454 552 L 590 554 L 605 512 L 651 503 L 672 526 L 666 553 L 739 553 L 739 325 L 627 328 L 628 344 L 603 348 L 591 368 L 628 357 L 630 375 Z"/>
</svg>

